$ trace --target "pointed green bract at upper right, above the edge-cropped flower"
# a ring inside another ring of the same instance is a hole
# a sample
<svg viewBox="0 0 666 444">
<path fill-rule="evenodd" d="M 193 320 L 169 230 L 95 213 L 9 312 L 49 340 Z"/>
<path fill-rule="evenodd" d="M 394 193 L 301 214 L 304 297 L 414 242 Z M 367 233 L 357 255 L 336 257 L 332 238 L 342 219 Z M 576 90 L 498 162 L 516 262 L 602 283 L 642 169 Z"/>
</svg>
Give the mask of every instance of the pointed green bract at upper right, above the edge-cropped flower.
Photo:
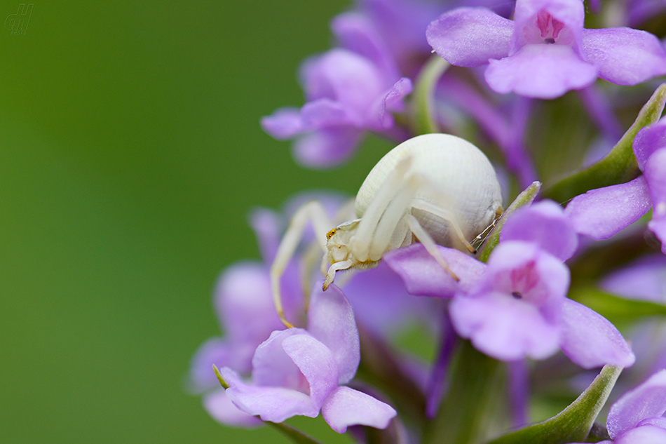
<svg viewBox="0 0 666 444">
<path fill-rule="evenodd" d="M 628 182 L 636 177 L 639 169 L 632 146 L 634 137 L 641 128 L 659 120 L 665 104 L 666 83 L 655 90 L 650 100 L 639 112 L 634 124 L 604 159 L 560 180 L 545 190 L 543 196 L 564 203 L 590 189 L 609 187 Z"/>
</svg>

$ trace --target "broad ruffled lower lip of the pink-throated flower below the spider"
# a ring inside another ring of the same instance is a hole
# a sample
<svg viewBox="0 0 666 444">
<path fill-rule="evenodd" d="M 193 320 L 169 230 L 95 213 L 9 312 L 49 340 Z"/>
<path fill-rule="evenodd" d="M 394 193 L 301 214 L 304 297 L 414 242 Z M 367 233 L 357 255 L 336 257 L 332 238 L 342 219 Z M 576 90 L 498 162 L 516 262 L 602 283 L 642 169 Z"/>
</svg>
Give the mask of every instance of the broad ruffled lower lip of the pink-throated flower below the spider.
<svg viewBox="0 0 666 444">
<path fill-rule="evenodd" d="M 545 359 L 557 351 L 560 328 L 538 307 L 498 292 L 460 295 L 449 305 L 456 332 L 484 354 L 501 361 Z"/>
</svg>

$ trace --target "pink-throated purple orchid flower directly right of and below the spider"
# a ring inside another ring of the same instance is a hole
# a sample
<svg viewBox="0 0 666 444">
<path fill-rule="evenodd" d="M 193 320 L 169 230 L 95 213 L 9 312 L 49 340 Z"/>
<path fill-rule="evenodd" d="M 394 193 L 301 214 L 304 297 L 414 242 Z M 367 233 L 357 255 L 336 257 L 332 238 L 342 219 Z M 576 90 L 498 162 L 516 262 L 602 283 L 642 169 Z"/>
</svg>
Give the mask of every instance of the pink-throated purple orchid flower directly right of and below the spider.
<svg viewBox="0 0 666 444">
<path fill-rule="evenodd" d="M 573 363 L 628 367 L 634 354 L 605 318 L 566 298 L 569 259 L 578 245 L 562 208 L 552 201 L 519 210 L 507 220 L 487 265 L 449 248 L 440 252 L 456 283 L 420 245 L 385 256 L 409 292 L 453 297 L 451 321 L 458 335 L 503 361 L 545 359 L 562 349 Z M 428 263 L 426 267 L 425 263 Z"/>
</svg>

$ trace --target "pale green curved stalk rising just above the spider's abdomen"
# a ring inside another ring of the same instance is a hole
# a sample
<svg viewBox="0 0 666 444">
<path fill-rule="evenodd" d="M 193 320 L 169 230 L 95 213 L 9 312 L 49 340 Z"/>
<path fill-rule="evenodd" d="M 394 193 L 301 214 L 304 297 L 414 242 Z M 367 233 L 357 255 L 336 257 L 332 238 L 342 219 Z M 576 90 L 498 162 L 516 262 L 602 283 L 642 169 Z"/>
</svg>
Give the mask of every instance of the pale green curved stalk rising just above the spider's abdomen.
<svg viewBox="0 0 666 444">
<path fill-rule="evenodd" d="M 416 135 L 440 133 L 435 120 L 435 86 L 442 74 L 449 68 L 449 62 L 439 55 L 433 55 L 421 69 L 416 79 L 412 107 L 414 109 L 414 133 Z"/>
</svg>

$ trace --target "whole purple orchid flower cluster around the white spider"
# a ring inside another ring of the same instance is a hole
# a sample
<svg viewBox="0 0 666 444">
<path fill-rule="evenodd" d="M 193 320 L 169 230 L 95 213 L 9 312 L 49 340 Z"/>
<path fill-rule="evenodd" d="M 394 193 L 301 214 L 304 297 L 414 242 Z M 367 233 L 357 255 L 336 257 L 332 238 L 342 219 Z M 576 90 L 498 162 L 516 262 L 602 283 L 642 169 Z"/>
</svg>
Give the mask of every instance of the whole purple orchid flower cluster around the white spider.
<svg viewBox="0 0 666 444">
<path fill-rule="evenodd" d="M 477 253 L 437 245 L 449 269 L 412 243 L 327 290 L 306 233 L 280 278 L 293 328 L 271 289 L 285 227 L 312 200 L 342 222 L 347 199 L 254 210 L 262 259 L 223 271 L 224 336 L 191 363 L 205 410 L 296 443 L 318 441 L 285 421 L 320 414 L 358 443 L 666 443 L 664 23 L 653 0 L 358 0 L 334 18 L 336 47 L 300 68 L 306 103 L 261 127 L 315 169 L 369 134 L 458 135 L 507 209 Z"/>
</svg>

